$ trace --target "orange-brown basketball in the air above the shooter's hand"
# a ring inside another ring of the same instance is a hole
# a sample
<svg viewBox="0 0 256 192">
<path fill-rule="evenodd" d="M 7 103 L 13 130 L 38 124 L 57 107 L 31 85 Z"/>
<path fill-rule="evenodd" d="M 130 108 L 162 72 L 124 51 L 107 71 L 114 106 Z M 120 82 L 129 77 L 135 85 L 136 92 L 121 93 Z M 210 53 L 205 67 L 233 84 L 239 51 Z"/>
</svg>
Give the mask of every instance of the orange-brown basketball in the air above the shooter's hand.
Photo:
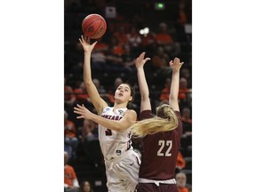
<svg viewBox="0 0 256 192">
<path fill-rule="evenodd" d="M 92 39 L 98 39 L 103 36 L 107 30 L 106 20 L 99 14 L 87 15 L 82 22 L 84 36 Z"/>
</svg>

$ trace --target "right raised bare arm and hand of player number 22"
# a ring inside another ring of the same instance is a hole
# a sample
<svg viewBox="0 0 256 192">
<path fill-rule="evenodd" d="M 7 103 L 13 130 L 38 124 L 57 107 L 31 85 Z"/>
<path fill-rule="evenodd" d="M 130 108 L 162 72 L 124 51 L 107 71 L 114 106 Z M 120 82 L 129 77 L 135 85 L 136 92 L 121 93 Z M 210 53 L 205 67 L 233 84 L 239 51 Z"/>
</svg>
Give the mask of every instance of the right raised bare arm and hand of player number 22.
<svg viewBox="0 0 256 192">
<path fill-rule="evenodd" d="M 172 67 L 172 84 L 169 95 L 169 104 L 174 111 L 180 111 L 178 94 L 180 85 L 180 68 L 183 62 L 180 62 L 179 58 L 174 58 L 174 60 L 171 60 L 169 64 Z"/>
</svg>

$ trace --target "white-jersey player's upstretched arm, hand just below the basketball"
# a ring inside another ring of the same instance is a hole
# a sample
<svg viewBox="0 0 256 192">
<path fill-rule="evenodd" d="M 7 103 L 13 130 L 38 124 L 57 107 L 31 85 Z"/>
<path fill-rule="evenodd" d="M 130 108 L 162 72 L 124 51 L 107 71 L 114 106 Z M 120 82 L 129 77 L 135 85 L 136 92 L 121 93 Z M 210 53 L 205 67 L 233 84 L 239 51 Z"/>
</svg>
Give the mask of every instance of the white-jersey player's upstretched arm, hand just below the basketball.
<svg viewBox="0 0 256 192">
<path fill-rule="evenodd" d="M 91 55 L 92 50 L 97 42 L 90 44 L 90 38 L 86 39 L 86 36 L 85 39 L 84 36 L 81 36 L 81 38 L 79 38 L 79 41 L 84 48 L 84 85 L 86 87 L 90 100 L 92 100 L 94 108 L 96 108 L 98 114 L 100 114 L 103 108 L 108 106 L 108 104 L 105 100 L 102 100 L 100 98 L 100 94 L 96 86 L 92 83 Z"/>
</svg>

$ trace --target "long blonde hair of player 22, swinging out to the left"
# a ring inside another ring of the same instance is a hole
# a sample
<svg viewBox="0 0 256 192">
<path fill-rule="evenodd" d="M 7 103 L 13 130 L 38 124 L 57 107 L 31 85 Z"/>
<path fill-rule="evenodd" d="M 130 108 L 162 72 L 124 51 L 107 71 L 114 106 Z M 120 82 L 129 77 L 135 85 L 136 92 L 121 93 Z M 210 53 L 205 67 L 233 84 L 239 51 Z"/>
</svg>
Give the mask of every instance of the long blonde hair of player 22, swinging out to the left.
<svg viewBox="0 0 256 192">
<path fill-rule="evenodd" d="M 156 108 L 156 116 L 141 120 L 132 126 L 133 135 L 144 137 L 156 132 L 169 132 L 178 126 L 178 116 L 170 105 L 163 104 Z"/>
</svg>

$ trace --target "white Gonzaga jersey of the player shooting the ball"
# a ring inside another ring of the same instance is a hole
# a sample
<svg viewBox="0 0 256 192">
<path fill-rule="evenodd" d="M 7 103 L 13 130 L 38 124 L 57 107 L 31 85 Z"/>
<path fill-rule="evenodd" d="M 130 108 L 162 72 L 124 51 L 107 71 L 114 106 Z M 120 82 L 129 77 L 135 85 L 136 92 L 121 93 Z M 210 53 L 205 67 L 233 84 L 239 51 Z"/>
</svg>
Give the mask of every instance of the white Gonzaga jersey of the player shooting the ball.
<svg viewBox="0 0 256 192">
<path fill-rule="evenodd" d="M 126 110 L 127 108 L 117 108 L 113 111 L 113 107 L 107 107 L 103 109 L 101 116 L 107 119 L 119 121 L 123 118 Z M 108 160 L 112 157 L 115 158 L 124 154 L 128 149 L 132 149 L 131 128 L 121 132 L 116 132 L 99 124 L 98 131 L 100 148 L 105 159 Z"/>
</svg>

